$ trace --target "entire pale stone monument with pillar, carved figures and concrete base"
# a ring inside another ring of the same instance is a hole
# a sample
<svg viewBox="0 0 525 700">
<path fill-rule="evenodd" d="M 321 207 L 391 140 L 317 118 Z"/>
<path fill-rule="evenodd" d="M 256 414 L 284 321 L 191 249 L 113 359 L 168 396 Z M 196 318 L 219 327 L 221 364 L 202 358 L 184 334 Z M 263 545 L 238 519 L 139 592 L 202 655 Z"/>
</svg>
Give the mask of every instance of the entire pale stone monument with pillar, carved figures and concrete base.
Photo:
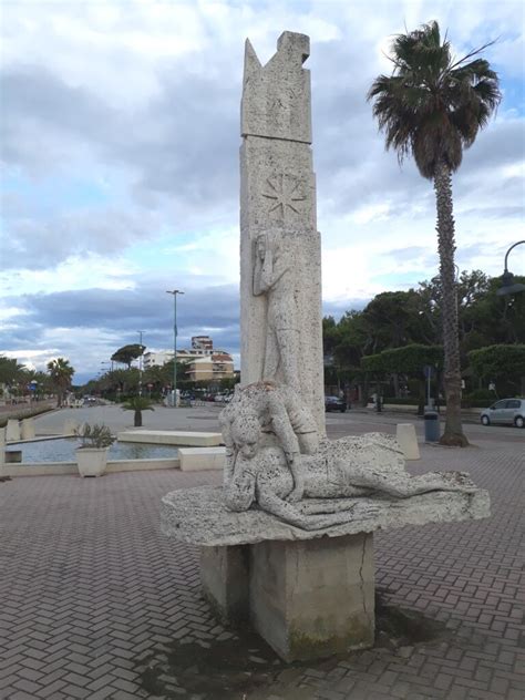
<svg viewBox="0 0 525 700">
<path fill-rule="evenodd" d="M 467 474 L 411 477 L 390 435 L 327 440 L 309 39 L 261 66 L 241 106 L 241 385 L 220 414 L 223 487 L 167 494 L 166 535 L 202 547 L 203 591 L 286 660 L 373 645 L 373 532 L 488 515 Z"/>
</svg>

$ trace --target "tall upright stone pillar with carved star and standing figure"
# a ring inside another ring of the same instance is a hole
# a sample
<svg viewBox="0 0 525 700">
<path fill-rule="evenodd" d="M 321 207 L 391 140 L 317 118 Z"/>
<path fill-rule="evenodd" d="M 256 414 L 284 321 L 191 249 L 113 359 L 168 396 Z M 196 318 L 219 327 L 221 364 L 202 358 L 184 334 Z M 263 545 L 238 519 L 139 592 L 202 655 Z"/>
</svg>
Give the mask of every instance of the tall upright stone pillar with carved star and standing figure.
<svg viewBox="0 0 525 700">
<path fill-rule="evenodd" d="M 262 66 L 246 44 L 240 148 L 241 381 L 286 383 L 325 433 L 320 237 L 309 39 L 284 32 Z M 300 372 L 299 372 L 300 368 Z"/>
</svg>

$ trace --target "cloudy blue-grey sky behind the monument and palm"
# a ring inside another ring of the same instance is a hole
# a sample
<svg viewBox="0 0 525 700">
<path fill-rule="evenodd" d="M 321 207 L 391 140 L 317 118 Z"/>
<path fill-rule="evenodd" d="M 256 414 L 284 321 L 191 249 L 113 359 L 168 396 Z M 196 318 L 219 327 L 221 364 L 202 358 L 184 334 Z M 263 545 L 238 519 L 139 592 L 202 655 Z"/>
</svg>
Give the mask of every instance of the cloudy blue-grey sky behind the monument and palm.
<svg viewBox="0 0 525 700">
<path fill-rule="evenodd" d="M 311 38 L 325 312 L 436 274 L 434 196 L 399 167 L 366 93 L 393 34 L 436 19 L 485 56 L 504 99 L 454 176 L 457 262 L 500 275 L 524 223 L 518 0 L 2 0 L 0 354 L 68 358 L 85 381 L 122 344 L 209 333 L 238 353 L 244 41 Z M 511 269 L 523 272 L 517 248 Z M 521 268 L 521 269 L 518 269 Z"/>
</svg>

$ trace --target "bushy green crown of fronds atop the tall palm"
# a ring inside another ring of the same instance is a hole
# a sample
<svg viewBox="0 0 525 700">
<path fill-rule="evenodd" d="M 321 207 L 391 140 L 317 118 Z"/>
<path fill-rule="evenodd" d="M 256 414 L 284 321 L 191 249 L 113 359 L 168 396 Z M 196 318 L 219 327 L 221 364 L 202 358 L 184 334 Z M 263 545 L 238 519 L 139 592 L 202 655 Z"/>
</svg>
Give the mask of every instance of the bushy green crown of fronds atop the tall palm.
<svg viewBox="0 0 525 700">
<path fill-rule="evenodd" d="M 379 75 L 367 97 L 387 150 L 394 148 L 400 162 L 413 155 L 430 178 L 440 162 L 451 171 L 460 166 L 463 148 L 474 143 L 502 99 L 497 74 L 478 56 L 493 43 L 453 61 L 436 21 L 393 38 L 392 75 Z"/>
</svg>

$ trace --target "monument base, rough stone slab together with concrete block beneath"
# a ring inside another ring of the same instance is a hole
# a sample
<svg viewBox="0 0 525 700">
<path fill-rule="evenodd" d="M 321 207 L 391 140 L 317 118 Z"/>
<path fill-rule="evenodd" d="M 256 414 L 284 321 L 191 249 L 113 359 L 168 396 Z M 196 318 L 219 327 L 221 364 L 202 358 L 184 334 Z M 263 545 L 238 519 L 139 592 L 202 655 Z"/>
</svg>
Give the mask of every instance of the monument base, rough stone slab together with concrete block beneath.
<svg viewBox="0 0 525 700">
<path fill-rule="evenodd" d="M 202 548 L 206 598 L 225 622 L 249 620 L 287 661 L 371 647 L 373 532 L 490 515 L 490 497 L 431 492 L 410 498 L 339 498 L 349 518 L 323 531 L 294 527 L 259 508 L 224 506 L 220 486 L 166 494 L 165 535 Z M 326 501 L 308 498 L 312 512 Z"/>
</svg>

